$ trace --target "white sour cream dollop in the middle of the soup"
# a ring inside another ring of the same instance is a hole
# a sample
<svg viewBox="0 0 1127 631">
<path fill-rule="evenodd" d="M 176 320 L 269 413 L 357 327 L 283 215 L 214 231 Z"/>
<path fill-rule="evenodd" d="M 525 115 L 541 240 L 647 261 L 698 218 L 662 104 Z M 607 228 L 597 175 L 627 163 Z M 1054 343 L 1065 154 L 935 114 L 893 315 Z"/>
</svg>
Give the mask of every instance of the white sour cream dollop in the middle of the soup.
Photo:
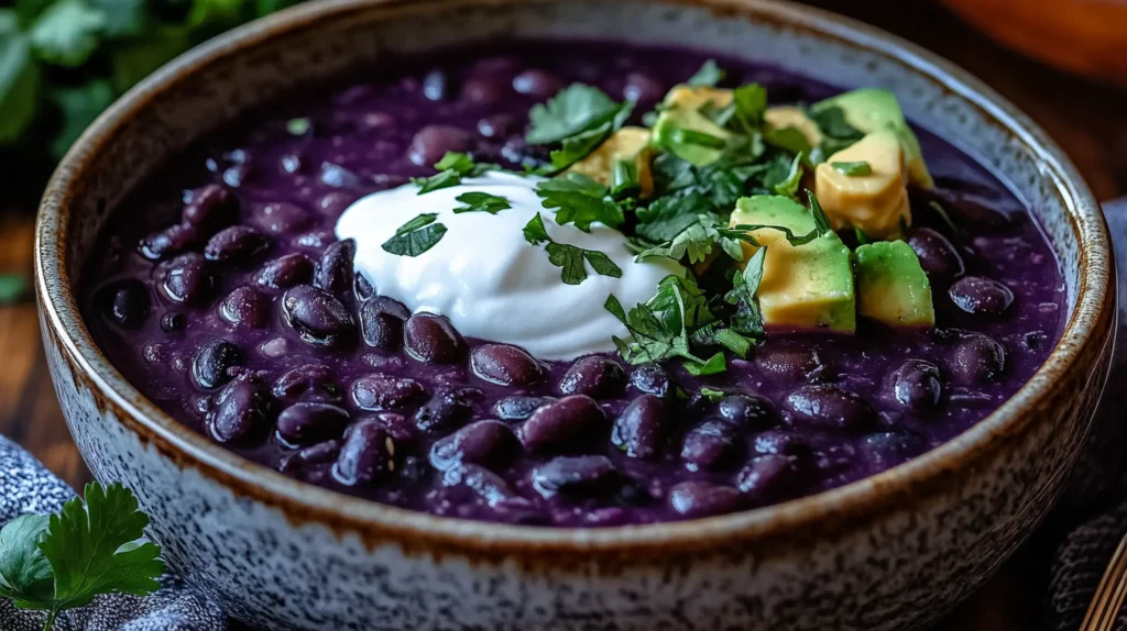
<svg viewBox="0 0 1127 631">
<path fill-rule="evenodd" d="M 356 271 L 381 296 L 394 298 L 414 313 L 441 314 L 462 335 L 524 348 L 545 360 L 568 360 L 614 350 L 611 336 L 627 337 L 625 327 L 605 308 L 614 294 L 625 308 L 645 303 L 657 283 L 684 269 L 664 259 L 636 263 L 625 238 L 602 224 L 585 233 L 560 226 L 541 206 L 535 178 L 491 172 L 455 187 L 418 195 L 406 184 L 356 200 L 337 222 L 337 236 L 356 240 Z M 496 215 L 454 213 L 454 198 L 471 191 L 504 197 L 512 208 Z M 446 234 L 418 256 L 385 252 L 381 245 L 396 228 L 423 213 L 436 213 Z M 595 273 L 566 285 L 543 245 L 524 238 L 524 225 L 540 213 L 549 236 L 584 250 L 597 250 L 622 269 L 622 278 Z"/>
</svg>

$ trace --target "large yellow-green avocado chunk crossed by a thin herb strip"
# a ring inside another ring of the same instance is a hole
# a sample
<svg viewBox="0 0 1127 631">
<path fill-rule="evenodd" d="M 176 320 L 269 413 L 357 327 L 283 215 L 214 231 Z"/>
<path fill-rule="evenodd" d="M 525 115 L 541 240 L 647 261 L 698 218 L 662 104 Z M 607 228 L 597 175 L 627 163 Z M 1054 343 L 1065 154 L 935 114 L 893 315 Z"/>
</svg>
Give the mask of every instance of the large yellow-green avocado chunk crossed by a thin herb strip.
<svg viewBox="0 0 1127 631">
<path fill-rule="evenodd" d="M 797 236 L 814 229 L 814 216 L 801 204 L 781 196 L 745 197 L 736 204 L 730 225 L 770 225 L 790 228 Z M 801 331 L 857 330 L 853 267 L 849 247 L 834 233 L 805 245 L 791 245 L 783 232 L 751 231 L 767 249 L 756 296 L 769 328 Z M 748 260 L 757 250 L 744 244 Z"/>
</svg>

